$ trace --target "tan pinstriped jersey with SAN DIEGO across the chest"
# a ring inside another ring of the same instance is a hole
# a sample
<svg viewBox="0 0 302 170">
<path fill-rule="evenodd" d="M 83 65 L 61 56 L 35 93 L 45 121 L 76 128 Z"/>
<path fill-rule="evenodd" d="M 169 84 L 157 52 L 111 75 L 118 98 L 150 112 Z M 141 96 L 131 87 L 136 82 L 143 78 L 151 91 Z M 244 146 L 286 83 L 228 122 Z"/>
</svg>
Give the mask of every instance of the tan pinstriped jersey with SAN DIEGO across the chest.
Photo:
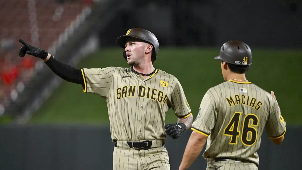
<svg viewBox="0 0 302 170">
<path fill-rule="evenodd" d="M 112 141 L 163 140 L 165 113 L 172 108 L 178 117 L 191 109 L 177 78 L 156 69 L 148 78 L 130 68 L 82 69 L 85 93 L 107 100 Z"/>
</svg>

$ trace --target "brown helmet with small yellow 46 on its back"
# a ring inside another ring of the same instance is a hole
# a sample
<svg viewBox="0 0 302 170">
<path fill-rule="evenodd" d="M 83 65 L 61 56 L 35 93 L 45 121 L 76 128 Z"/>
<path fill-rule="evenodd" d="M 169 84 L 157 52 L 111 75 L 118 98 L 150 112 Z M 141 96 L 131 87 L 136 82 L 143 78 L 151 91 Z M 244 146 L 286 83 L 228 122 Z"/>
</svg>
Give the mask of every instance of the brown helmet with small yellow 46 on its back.
<svg viewBox="0 0 302 170">
<path fill-rule="evenodd" d="M 219 56 L 214 58 L 226 63 L 245 66 L 252 64 L 252 51 L 244 42 L 228 41 L 220 48 Z"/>
</svg>

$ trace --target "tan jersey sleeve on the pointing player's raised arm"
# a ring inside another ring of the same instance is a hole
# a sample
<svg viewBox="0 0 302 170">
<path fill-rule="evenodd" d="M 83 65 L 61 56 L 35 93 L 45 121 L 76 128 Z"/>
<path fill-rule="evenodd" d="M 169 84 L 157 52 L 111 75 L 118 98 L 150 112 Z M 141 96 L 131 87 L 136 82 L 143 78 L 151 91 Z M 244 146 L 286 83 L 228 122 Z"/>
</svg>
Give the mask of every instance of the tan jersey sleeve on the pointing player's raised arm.
<svg viewBox="0 0 302 170">
<path fill-rule="evenodd" d="M 113 78 L 115 67 L 83 68 L 84 93 L 95 93 L 106 97 Z"/>
</svg>

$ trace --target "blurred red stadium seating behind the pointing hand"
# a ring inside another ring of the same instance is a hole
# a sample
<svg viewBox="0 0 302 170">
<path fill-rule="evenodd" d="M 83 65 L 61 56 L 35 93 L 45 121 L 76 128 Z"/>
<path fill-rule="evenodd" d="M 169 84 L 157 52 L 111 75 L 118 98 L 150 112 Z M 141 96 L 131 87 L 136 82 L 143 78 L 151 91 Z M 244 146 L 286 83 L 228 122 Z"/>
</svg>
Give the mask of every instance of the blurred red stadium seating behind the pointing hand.
<svg viewBox="0 0 302 170">
<path fill-rule="evenodd" d="M 83 0 L 58 4 L 55 0 L 35 0 L 35 7 L 38 7 L 36 8 L 36 23 L 39 34 L 39 47 L 46 50 L 50 48 L 54 41 L 58 40 L 59 35 L 64 33 L 65 29 L 82 12 L 82 9 L 90 6 L 91 2 L 90 0 Z M 30 14 L 28 13 L 33 11 L 28 11 L 28 1 L 0 1 L 0 6 L 1 103 L 3 96 L 9 95 L 9 89 L 15 88 L 17 80 L 24 81 L 24 83 L 30 80 L 33 75 L 32 70 L 35 62 L 39 59 L 34 57 L 18 57 L 18 50 L 21 47 L 21 44 L 18 42 L 19 38 L 29 44 L 33 43 L 33 25 L 30 23 Z"/>
</svg>

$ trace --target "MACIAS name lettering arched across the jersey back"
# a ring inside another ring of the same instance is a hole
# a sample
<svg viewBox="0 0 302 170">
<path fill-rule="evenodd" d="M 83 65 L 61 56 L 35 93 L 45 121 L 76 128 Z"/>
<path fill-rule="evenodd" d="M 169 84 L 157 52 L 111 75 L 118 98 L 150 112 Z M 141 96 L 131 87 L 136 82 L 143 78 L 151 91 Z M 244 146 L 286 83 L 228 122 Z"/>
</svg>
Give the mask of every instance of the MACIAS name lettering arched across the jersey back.
<svg viewBox="0 0 302 170">
<path fill-rule="evenodd" d="M 245 104 L 254 108 L 255 110 L 259 110 L 262 106 L 261 101 L 257 102 L 255 98 L 251 98 L 250 96 L 246 97 L 245 95 L 241 95 L 241 97 L 239 95 L 235 95 L 234 97 L 230 96 L 229 98 L 226 98 L 226 101 L 227 103 L 229 103 L 230 107 L 232 107 L 233 105 Z"/>
</svg>

